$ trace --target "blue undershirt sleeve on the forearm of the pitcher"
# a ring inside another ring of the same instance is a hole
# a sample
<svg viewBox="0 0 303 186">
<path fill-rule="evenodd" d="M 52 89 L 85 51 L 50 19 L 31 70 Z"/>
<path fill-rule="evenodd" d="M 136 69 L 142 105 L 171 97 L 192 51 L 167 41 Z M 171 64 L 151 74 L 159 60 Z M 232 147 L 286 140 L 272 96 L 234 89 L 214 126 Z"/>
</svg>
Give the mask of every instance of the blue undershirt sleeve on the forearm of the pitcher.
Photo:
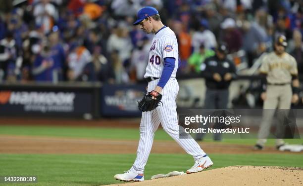
<svg viewBox="0 0 303 186">
<path fill-rule="evenodd" d="M 163 88 L 165 86 L 174 69 L 175 69 L 175 58 L 172 57 L 164 58 L 164 68 L 160 80 L 157 84 L 159 87 Z"/>
</svg>

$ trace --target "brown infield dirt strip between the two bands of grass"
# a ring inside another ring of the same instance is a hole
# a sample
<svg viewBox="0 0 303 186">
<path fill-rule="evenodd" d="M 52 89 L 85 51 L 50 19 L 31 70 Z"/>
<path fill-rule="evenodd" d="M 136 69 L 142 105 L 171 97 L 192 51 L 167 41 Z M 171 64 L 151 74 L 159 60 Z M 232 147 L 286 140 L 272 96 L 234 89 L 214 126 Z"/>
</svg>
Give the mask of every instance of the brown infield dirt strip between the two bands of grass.
<svg viewBox="0 0 303 186">
<path fill-rule="evenodd" d="M 282 152 L 274 147 L 253 150 L 252 146 L 201 142 L 208 153 L 245 154 L 245 153 L 293 153 Z M 105 140 L 66 137 L 39 137 L 0 135 L 0 153 L 41 153 L 41 154 L 121 154 L 135 153 L 138 140 Z M 174 141 L 155 141 L 152 153 L 185 153 Z M 303 153 L 303 152 L 299 152 Z"/>
</svg>

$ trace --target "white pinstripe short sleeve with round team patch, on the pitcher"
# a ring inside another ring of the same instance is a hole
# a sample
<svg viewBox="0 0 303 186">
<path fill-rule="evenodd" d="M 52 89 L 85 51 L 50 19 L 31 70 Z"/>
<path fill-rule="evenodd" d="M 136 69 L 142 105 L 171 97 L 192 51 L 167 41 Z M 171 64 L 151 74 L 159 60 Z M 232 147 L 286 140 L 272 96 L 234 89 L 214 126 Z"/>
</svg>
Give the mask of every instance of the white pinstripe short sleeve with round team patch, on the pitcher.
<svg viewBox="0 0 303 186">
<path fill-rule="evenodd" d="M 175 58 L 178 56 L 178 43 L 176 37 L 163 36 L 160 42 L 160 50 L 163 54 L 163 59 L 167 57 Z"/>
</svg>

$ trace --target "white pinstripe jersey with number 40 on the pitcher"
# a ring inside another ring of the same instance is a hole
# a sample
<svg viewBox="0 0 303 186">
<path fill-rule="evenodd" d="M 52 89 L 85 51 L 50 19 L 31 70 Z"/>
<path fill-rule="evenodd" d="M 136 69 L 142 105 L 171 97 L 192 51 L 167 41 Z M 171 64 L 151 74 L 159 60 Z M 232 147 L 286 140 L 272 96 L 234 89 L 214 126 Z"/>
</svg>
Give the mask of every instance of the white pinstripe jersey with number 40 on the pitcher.
<svg viewBox="0 0 303 186">
<path fill-rule="evenodd" d="M 178 42 L 175 33 L 169 27 L 160 30 L 152 39 L 149 61 L 144 77 L 161 77 L 164 68 L 164 58 L 166 57 L 175 58 L 175 69 L 171 77 L 176 77 L 178 56 Z"/>
</svg>

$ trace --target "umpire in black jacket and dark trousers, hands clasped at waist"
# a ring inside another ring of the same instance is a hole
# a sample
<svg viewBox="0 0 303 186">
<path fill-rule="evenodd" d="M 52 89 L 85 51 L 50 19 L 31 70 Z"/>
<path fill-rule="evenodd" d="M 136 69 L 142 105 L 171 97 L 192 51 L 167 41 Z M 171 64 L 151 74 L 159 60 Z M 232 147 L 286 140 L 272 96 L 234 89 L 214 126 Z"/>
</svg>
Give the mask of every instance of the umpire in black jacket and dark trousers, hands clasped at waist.
<svg viewBox="0 0 303 186">
<path fill-rule="evenodd" d="M 215 55 L 205 59 L 200 70 L 206 82 L 205 109 L 227 109 L 230 82 L 236 78 L 236 67 L 226 58 L 228 53 L 225 44 L 219 44 L 215 49 Z M 222 124 L 216 123 L 215 127 Z M 214 133 L 214 140 L 221 141 L 222 135 Z M 204 133 L 198 133 L 196 139 L 202 140 Z"/>
</svg>

